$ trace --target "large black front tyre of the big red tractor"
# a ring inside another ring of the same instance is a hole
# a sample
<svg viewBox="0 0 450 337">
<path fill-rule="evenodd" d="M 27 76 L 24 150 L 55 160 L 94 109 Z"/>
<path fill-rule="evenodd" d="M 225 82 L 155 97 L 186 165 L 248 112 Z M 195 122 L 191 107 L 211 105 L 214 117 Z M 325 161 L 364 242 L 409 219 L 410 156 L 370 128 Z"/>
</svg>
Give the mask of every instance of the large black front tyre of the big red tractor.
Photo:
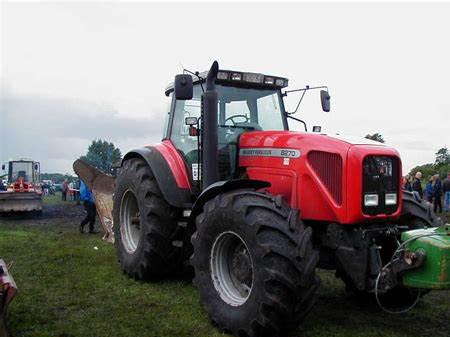
<svg viewBox="0 0 450 337">
<path fill-rule="evenodd" d="M 196 219 L 191 262 L 200 301 L 219 329 L 239 337 L 275 337 L 309 312 L 320 283 L 315 275 L 319 254 L 312 246 L 311 228 L 305 229 L 297 215 L 281 198 L 248 190 L 227 192 L 205 204 Z M 246 269 L 243 259 L 232 255 L 238 273 L 251 270 L 252 281 L 244 302 L 231 304 L 216 290 L 220 278 L 213 281 L 213 252 L 223 237 L 235 234 L 253 268 Z"/>
</svg>

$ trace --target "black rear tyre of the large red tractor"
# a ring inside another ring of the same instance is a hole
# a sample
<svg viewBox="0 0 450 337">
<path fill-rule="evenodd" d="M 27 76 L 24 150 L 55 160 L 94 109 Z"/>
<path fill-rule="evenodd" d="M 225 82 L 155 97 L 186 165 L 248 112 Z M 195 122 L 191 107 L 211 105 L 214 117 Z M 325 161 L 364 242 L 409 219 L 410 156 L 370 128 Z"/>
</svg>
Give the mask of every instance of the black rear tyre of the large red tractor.
<svg viewBox="0 0 450 337">
<path fill-rule="evenodd" d="M 133 195 L 137 211 L 132 225 L 139 229 L 134 251 L 123 221 L 126 218 L 123 201 L 132 200 Z M 182 252 L 173 244 L 179 216 L 180 211 L 164 200 L 147 163 L 140 158 L 125 161 L 116 179 L 113 218 L 118 258 L 128 276 L 138 280 L 160 279 L 179 270 Z"/>
</svg>

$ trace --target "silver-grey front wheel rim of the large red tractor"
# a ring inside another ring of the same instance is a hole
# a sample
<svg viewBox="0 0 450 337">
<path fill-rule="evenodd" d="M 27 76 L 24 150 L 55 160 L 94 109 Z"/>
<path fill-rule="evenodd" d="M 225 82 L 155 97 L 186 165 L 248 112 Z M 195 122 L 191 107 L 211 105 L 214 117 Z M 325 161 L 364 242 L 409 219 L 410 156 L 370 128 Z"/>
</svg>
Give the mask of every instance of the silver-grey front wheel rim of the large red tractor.
<svg viewBox="0 0 450 337">
<path fill-rule="evenodd" d="M 235 232 L 221 233 L 211 249 L 211 277 L 224 302 L 244 304 L 253 287 L 253 261 L 245 241 Z"/>
</svg>

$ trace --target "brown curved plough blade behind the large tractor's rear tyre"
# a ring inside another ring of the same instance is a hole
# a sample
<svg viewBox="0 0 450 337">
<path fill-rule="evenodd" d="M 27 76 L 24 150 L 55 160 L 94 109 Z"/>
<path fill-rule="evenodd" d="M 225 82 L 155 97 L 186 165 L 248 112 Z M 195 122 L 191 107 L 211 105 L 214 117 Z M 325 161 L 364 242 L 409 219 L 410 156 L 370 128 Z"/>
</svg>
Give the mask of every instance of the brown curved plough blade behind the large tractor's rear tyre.
<svg viewBox="0 0 450 337">
<path fill-rule="evenodd" d="M 105 231 L 103 239 L 114 243 L 113 232 L 113 193 L 114 177 L 89 165 L 81 159 L 73 163 L 73 169 L 81 180 L 92 190 L 100 222 Z"/>
</svg>

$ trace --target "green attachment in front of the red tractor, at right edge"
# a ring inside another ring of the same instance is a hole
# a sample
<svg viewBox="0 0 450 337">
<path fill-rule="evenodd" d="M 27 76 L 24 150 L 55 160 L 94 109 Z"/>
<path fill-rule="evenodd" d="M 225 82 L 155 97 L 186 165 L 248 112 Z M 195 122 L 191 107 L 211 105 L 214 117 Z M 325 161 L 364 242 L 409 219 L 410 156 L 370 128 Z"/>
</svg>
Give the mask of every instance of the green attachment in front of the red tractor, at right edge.
<svg viewBox="0 0 450 337">
<path fill-rule="evenodd" d="M 423 235 L 427 236 L 420 237 Z M 405 242 L 414 237 L 418 238 L 406 243 L 405 249 L 422 250 L 426 259 L 423 266 L 405 272 L 403 284 L 412 288 L 450 289 L 450 225 L 404 232 L 401 239 Z"/>
</svg>

